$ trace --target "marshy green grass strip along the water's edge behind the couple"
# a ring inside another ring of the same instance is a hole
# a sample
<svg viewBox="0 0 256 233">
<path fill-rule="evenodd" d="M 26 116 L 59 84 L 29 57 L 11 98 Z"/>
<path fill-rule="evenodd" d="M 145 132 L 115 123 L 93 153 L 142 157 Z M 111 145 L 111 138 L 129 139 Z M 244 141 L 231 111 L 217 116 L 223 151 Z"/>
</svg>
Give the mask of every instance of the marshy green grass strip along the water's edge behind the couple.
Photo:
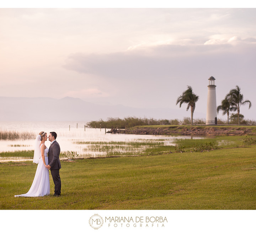
<svg viewBox="0 0 256 233">
<path fill-rule="evenodd" d="M 77 155 L 76 152 L 63 152 L 60 158 L 90 158 L 90 157 L 121 157 L 139 155 L 158 155 L 176 152 L 202 152 L 222 148 L 244 147 L 256 144 L 256 136 L 214 136 L 197 139 L 175 138 L 170 140 L 151 139 L 123 142 L 89 142 L 76 141 L 76 144 L 86 144 L 84 153 Z M 91 155 L 91 153 L 98 153 Z M 33 150 L 15 152 L 1 152 L 0 158 L 33 158 Z M 1 163 L 1 159 L 0 159 Z"/>
</svg>

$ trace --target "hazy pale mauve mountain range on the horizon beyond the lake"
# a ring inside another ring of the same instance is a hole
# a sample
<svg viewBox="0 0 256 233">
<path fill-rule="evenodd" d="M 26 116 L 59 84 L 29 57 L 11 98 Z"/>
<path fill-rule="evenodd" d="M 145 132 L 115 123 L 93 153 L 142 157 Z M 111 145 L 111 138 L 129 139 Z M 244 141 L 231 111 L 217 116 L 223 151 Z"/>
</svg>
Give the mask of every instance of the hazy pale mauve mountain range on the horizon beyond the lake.
<svg viewBox="0 0 256 233">
<path fill-rule="evenodd" d="M 155 119 L 183 119 L 190 111 L 170 108 L 132 108 L 123 105 L 99 105 L 79 98 L 60 100 L 47 97 L 0 97 L 0 121 L 92 121 L 109 117 L 140 117 Z M 205 118 L 194 113 L 195 118 Z"/>
</svg>

